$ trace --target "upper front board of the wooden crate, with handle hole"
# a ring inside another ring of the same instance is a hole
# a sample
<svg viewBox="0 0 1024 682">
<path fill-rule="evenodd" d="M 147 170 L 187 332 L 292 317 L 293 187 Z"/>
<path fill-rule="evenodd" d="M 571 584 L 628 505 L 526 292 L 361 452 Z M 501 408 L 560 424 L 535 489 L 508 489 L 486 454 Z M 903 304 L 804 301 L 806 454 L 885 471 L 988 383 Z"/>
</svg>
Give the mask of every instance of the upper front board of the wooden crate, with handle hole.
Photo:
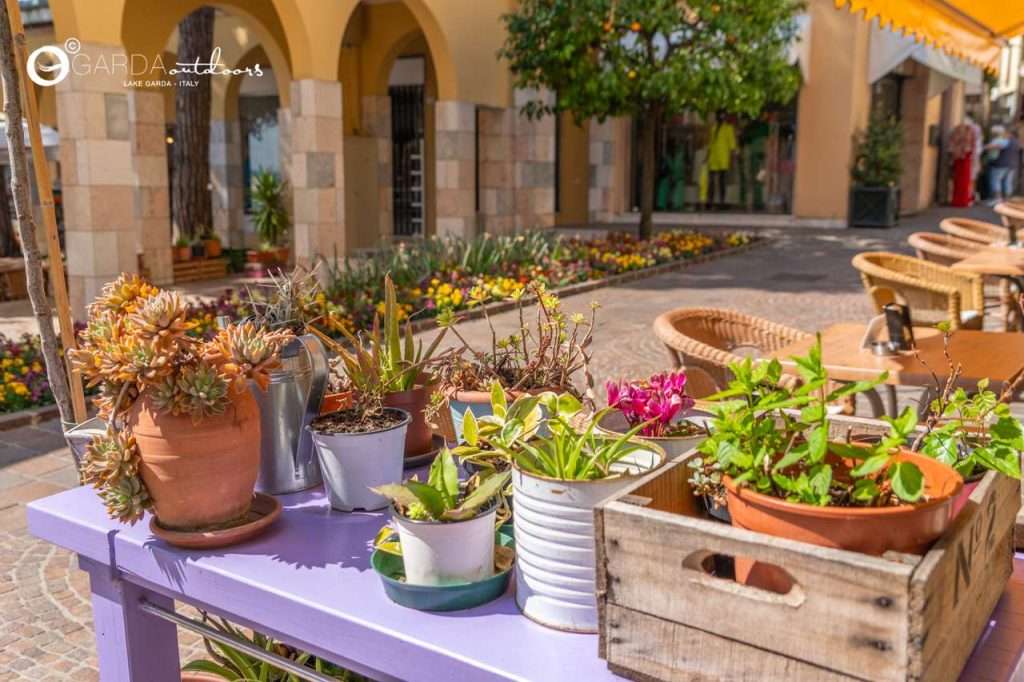
<svg viewBox="0 0 1024 682">
<path fill-rule="evenodd" d="M 617 502 L 605 512 L 609 603 L 839 672 L 902 679 L 913 566 Z M 783 596 L 709 576 L 699 564 L 712 552 L 780 566 L 798 587 Z"/>
</svg>

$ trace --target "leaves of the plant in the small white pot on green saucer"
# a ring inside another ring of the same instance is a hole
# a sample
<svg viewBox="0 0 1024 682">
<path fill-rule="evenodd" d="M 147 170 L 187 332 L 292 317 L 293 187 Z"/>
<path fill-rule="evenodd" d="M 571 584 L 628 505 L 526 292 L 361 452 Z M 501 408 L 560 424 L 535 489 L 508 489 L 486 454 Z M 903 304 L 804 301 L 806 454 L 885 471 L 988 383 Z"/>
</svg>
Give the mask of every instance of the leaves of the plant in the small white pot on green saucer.
<svg viewBox="0 0 1024 682">
<path fill-rule="evenodd" d="M 414 520 L 463 521 L 473 518 L 498 498 L 511 472 L 475 474 L 465 483 L 449 449 L 430 465 L 425 482 L 413 476 L 404 483 L 388 483 L 373 488 L 394 502 L 398 512 Z"/>
</svg>

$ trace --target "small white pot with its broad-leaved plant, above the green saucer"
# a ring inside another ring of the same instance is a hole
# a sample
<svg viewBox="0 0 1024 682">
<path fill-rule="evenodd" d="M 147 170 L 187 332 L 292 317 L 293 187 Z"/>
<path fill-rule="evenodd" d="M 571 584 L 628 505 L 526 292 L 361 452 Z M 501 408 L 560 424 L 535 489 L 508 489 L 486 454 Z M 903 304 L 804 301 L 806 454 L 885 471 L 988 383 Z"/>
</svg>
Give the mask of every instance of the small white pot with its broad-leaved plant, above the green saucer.
<svg viewBox="0 0 1024 682">
<path fill-rule="evenodd" d="M 374 488 L 393 503 L 410 585 L 458 585 L 489 578 L 495 569 L 495 529 L 501 491 L 509 472 L 475 474 L 460 482 L 452 453 L 444 449 L 430 465 L 425 482 Z"/>
</svg>

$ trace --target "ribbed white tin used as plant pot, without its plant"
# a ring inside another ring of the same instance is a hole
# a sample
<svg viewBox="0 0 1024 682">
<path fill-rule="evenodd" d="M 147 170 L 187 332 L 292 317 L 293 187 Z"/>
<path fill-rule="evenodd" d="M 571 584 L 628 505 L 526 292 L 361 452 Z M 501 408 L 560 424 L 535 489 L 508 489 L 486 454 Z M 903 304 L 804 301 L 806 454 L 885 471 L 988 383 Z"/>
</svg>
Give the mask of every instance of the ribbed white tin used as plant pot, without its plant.
<svg viewBox="0 0 1024 682">
<path fill-rule="evenodd" d="M 594 507 L 665 463 L 651 443 L 601 480 L 556 480 L 512 469 L 515 600 L 526 617 L 557 630 L 597 632 Z"/>
</svg>

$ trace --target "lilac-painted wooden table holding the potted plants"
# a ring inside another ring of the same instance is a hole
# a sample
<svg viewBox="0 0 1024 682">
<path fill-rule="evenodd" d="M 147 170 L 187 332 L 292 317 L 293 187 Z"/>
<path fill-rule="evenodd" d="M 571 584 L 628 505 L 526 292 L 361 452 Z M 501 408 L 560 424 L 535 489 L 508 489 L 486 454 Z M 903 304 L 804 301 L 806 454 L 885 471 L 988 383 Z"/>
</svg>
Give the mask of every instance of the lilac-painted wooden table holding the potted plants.
<svg viewBox="0 0 1024 682">
<path fill-rule="evenodd" d="M 207 551 L 158 540 L 148 516 L 134 526 L 110 520 L 88 487 L 29 505 L 30 531 L 77 553 L 89 573 L 101 682 L 179 682 L 176 626 L 191 624 L 175 612 L 175 601 L 377 680 L 621 679 L 598 657 L 596 635 L 535 624 L 511 593 L 446 613 L 392 603 L 370 567 L 386 514 L 331 511 L 321 489 L 279 499 L 284 511 L 265 535 Z M 1018 679 L 1022 662 L 1024 555 L 1018 554 L 963 679 Z"/>
</svg>

